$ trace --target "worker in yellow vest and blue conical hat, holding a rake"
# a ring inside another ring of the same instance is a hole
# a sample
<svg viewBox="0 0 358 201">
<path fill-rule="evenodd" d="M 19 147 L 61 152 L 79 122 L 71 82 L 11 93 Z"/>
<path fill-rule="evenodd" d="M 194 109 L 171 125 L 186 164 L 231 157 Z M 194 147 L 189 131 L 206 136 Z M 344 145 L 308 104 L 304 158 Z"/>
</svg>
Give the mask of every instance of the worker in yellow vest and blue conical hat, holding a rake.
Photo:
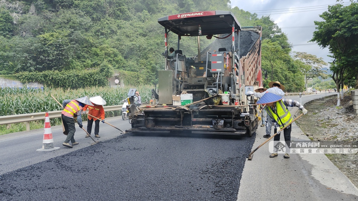
<svg viewBox="0 0 358 201">
<path fill-rule="evenodd" d="M 282 98 L 281 96 L 273 93 L 265 93 L 256 103 L 266 104 L 267 106 L 267 121 L 272 121 L 272 124 L 275 126 L 274 133 L 277 133 L 277 135 L 274 137 L 274 147 L 276 147 L 275 145 L 277 145 L 280 141 L 280 135 L 282 132 L 280 129 L 289 125 L 293 120 L 287 107 L 298 107 L 302 110 L 303 114 L 307 114 L 307 110 L 301 103 L 297 102 L 296 100 Z M 290 158 L 289 150 L 291 143 L 291 126 L 287 126 L 285 129 L 283 129 L 283 132 L 286 146 L 286 153 L 284 158 Z M 274 153 L 270 155 L 270 158 L 278 156 L 278 149 L 279 147 L 277 146 L 276 151 L 274 150 Z"/>
</svg>

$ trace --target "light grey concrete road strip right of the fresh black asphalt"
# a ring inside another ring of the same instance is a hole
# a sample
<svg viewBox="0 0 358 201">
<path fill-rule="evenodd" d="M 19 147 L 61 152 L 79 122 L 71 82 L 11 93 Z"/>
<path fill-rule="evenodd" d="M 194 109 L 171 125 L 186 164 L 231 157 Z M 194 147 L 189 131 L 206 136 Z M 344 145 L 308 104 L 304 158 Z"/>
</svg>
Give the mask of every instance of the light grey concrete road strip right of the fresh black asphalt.
<svg viewBox="0 0 358 201">
<path fill-rule="evenodd" d="M 305 95 L 302 96 L 302 102 L 324 95 L 324 93 Z M 297 96 L 287 98 L 299 100 Z M 291 114 L 296 113 L 297 109 L 290 108 Z M 265 131 L 258 130 L 253 149 L 266 141 L 266 138 L 262 137 L 264 134 Z M 292 123 L 291 139 L 309 141 L 295 123 Z M 358 199 L 357 188 L 324 154 L 291 154 L 289 159 L 283 158 L 283 154 L 269 158 L 270 154 L 269 143 L 266 143 L 254 153 L 252 161 L 245 163 L 238 200 Z"/>
</svg>

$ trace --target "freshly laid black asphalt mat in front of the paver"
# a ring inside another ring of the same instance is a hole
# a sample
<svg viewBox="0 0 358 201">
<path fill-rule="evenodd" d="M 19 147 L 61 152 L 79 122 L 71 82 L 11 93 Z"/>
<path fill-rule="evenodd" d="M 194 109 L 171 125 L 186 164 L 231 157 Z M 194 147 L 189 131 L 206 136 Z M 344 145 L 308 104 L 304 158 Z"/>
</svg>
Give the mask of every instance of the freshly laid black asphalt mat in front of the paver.
<svg viewBox="0 0 358 201">
<path fill-rule="evenodd" d="M 0 200 L 237 200 L 254 140 L 125 134 L 0 175 Z"/>
</svg>

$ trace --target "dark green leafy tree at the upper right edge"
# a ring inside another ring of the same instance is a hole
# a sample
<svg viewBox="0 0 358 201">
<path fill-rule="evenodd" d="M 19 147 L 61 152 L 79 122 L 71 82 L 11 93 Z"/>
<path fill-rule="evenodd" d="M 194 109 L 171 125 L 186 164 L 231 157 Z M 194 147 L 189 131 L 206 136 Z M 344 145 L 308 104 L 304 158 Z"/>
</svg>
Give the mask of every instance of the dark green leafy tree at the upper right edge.
<svg viewBox="0 0 358 201">
<path fill-rule="evenodd" d="M 348 6 L 328 6 L 328 11 L 320 17 L 324 21 L 314 22 L 318 27 L 311 41 L 333 54 L 330 70 L 339 92 L 347 75 L 345 72 L 353 71 L 350 69 L 355 69 L 358 63 L 358 3 L 351 1 Z"/>
</svg>

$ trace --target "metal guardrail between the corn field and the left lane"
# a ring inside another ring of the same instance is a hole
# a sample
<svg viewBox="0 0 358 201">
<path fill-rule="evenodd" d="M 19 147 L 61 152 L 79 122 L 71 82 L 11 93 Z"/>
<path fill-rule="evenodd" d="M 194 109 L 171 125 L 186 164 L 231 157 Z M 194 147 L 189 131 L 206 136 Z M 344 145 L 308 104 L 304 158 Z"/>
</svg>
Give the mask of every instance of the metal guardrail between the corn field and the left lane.
<svg viewBox="0 0 358 201">
<path fill-rule="evenodd" d="M 105 109 L 105 112 L 122 110 L 122 105 L 104 106 L 103 109 Z M 48 112 L 48 116 L 50 119 L 60 118 L 61 112 L 62 110 L 50 111 Z M 45 112 L 15 114 L 15 115 L 1 116 L 0 125 L 26 122 L 26 131 L 30 131 L 30 122 L 44 120 L 44 119 L 45 119 Z"/>
</svg>

